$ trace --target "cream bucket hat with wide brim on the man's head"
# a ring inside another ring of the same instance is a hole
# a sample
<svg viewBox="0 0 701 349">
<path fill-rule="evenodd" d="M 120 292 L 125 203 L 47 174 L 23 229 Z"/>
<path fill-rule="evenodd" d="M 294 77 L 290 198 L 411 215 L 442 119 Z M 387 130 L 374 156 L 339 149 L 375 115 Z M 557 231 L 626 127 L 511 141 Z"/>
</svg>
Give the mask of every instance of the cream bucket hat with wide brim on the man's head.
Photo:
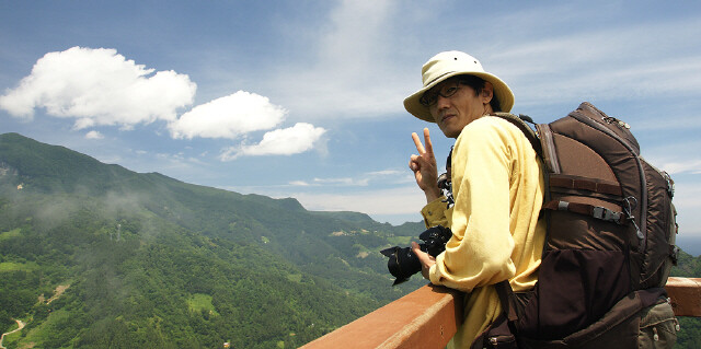
<svg viewBox="0 0 701 349">
<path fill-rule="evenodd" d="M 424 93 L 441 81 L 455 75 L 475 75 L 492 83 L 494 95 L 499 101 L 502 112 L 510 112 L 514 106 L 514 93 L 508 85 L 494 74 L 485 72 L 480 61 L 461 51 L 445 51 L 432 57 L 422 68 L 424 88 L 404 100 L 404 108 L 415 117 L 435 123 L 428 107 L 421 104 Z"/>
</svg>

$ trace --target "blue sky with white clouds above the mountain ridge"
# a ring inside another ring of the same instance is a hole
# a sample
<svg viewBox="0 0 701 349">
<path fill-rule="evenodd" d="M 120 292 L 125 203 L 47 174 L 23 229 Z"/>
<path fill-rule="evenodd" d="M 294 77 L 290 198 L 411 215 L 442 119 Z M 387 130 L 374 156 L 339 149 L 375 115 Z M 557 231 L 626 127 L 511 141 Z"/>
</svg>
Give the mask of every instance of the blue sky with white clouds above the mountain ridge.
<svg viewBox="0 0 701 349">
<path fill-rule="evenodd" d="M 701 4 L 693 1 L 0 0 L 0 132 L 137 172 L 418 221 L 402 101 L 467 51 L 549 123 L 594 103 L 671 173 L 701 237 Z M 682 236 L 680 235 L 680 236 Z"/>
</svg>

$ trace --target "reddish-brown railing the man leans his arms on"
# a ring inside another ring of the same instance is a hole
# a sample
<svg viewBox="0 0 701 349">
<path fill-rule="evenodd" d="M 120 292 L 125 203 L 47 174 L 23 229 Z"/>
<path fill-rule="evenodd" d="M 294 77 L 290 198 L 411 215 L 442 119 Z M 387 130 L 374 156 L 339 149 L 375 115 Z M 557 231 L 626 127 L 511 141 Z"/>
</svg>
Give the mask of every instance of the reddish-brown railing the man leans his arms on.
<svg viewBox="0 0 701 349">
<path fill-rule="evenodd" d="M 701 316 L 701 279 L 665 288 L 677 316 Z M 461 324 L 461 293 L 428 284 L 302 348 L 445 348 Z"/>
</svg>

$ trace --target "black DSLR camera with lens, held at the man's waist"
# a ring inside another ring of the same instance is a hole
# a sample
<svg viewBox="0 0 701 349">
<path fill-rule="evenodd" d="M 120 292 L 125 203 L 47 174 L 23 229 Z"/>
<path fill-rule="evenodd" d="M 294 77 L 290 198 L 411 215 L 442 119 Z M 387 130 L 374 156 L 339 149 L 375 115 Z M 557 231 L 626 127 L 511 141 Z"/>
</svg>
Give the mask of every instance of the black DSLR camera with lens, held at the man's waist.
<svg viewBox="0 0 701 349">
<path fill-rule="evenodd" d="M 424 242 L 418 244 L 418 246 L 421 251 L 436 257 L 446 251 L 446 243 L 450 240 L 451 235 L 452 232 L 448 228 L 440 225 L 432 226 L 418 235 L 418 239 Z M 412 275 L 421 271 L 421 261 L 418 261 L 418 257 L 412 252 L 412 247 L 401 248 L 394 246 L 382 249 L 380 253 L 390 258 L 387 261 L 387 268 L 390 269 L 390 274 L 397 278 L 392 286 L 400 284 L 409 280 Z"/>
</svg>

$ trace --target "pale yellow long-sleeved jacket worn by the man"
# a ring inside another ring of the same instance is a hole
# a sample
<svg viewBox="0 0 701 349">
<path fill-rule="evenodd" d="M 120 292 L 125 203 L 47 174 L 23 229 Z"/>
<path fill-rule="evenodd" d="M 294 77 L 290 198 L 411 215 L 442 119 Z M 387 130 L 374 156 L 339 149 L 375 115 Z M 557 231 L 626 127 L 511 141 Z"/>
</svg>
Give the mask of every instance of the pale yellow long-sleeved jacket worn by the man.
<svg viewBox="0 0 701 349">
<path fill-rule="evenodd" d="M 435 200 L 422 210 L 427 226 L 452 231 L 430 268 L 430 282 L 469 292 L 466 318 L 452 346 L 468 348 L 501 312 L 493 284 L 532 289 L 545 239 L 538 217 L 543 200 L 541 163 L 509 121 L 482 117 L 458 137 L 451 154 L 455 206 Z"/>
</svg>

